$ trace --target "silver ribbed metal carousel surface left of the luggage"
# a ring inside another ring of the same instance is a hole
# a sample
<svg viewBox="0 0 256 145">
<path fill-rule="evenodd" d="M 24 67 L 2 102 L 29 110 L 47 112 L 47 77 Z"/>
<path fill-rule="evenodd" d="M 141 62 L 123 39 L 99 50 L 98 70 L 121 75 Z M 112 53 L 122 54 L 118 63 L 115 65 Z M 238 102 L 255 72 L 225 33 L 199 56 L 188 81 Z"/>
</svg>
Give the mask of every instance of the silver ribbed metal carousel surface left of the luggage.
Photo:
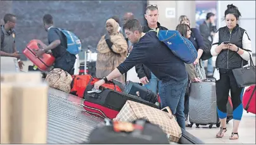
<svg viewBox="0 0 256 145">
<path fill-rule="evenodd" d="M 48 144 L 79 144 L 103 120 L 84 113 L 82 99 L 49 88 Z M 75 102 L 75 103 L 74 103 Z"/>
</svg>

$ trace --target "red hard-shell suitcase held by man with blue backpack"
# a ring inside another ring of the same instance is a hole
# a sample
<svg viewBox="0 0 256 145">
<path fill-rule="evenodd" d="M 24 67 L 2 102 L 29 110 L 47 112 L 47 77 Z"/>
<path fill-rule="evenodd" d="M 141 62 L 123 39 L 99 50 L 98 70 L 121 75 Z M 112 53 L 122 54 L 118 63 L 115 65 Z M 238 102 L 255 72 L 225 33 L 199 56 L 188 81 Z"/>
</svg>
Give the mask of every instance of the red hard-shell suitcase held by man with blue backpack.
<svg viewBox="0 0 256 145">
<path fill-rule="evenodd" d="M 55 58 L 53 55 L 47 53 L 42 54 L 42 57 L 35 57 L 35 50 L 38 50 L 42 45 L 44 45 L 42 41 L 33 39 L 27 44 L 26 48 L 23 50 L 23 54 L 29 58 L 39 70 L 47 71 L 49 67 L 53 65 Z"/>
</svg>

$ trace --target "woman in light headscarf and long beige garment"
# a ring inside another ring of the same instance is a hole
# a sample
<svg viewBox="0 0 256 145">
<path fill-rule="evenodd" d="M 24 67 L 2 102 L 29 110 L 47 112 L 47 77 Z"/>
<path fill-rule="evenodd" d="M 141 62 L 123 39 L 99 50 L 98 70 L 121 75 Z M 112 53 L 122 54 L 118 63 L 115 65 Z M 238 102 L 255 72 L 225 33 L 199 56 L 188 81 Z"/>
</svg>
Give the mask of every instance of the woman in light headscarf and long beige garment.
<svg viewBox="0 0 256 145">
<path fill-rule="evenodd" d="M 101 37 L 97 46 L 96 77 L 106 77 L 126 59 L 128 46 L 118 27 L 113 18 L 106 21 L 106 35 Z M 125 75 L 115 80 L 124 83 Z"/>
</svg>

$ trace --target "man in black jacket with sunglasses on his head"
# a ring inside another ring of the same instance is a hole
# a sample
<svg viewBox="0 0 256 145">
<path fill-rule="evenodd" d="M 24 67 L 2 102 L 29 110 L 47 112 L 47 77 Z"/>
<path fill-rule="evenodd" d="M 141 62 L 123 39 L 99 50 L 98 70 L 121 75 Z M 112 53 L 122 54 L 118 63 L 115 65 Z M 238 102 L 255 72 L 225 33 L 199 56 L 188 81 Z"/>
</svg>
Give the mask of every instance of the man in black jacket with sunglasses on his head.
<svg viewBox="0 0 256 145">
<path fill-rule="evenodd" d="M 147 25 L 143 26 L 143 32 L 146 33 L 150 30 L 160 28 L 160 30 L 167 30 L 158 23 L 158 8 L 156 4 L 150 4 L 146 6 L 145 18 Z M 147 89 L 157 93 L 157 87 L 160 86 L 160 80 L 143 64 L 135 66 L 138 73 L 139 80 L 145 85 Z"/>
</svg>

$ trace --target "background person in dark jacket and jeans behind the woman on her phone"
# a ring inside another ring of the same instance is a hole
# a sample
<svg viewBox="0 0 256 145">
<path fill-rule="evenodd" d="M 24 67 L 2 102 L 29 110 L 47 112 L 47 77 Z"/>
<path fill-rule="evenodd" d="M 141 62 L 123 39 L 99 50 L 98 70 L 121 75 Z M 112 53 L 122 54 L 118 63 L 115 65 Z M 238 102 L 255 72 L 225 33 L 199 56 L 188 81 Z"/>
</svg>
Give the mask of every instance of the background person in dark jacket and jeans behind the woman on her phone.
<svg viewBox="0 0 256 145">
<path fill-rule="evenodd" d="M 212 44 L 213 37 L 217 31 L 215 26 L 215 15 L 214 13 L 207 13 L 206 20 L 200 25 L 200 32 L 207 44 Z M 212 58 L 208 59 L 207 63 L 207 77 L 212 77 L 214 75 L 214 66 L 212 65 Z"/>
</svg>

